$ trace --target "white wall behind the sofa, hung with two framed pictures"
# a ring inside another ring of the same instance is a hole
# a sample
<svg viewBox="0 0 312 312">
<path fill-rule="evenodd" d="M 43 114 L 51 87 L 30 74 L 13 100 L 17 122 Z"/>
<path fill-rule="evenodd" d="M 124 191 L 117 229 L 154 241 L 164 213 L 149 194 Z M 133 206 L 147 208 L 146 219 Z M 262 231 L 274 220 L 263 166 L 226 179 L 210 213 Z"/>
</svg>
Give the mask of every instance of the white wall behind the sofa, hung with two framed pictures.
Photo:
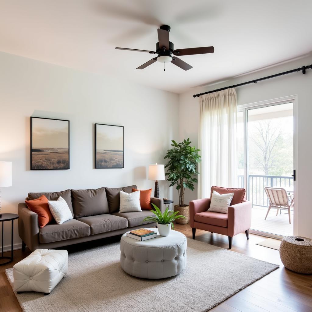
<svg viewBox="0 0 312 312">
<path fill-rule="evenodd" d="M 28 192 L 68 188 L 153 188 L 150 163 L 163 163 L 178 138 L 178 95 L 0 53 L 0 161 L 12 161 L 13 186 L 1 189 L 1 212 L 17 213 Z M 70 120 L 70 170 L 30 171 L 30 116 Z M 124 168 L 94 169 L 94 123 L 124 126 Z M 173 197 L 166 181 L 161 197 Z M 5 223 L 4 246 L 10 244 Z M 14 242 L 20 245 L 17 222 Z"/>
</svg>

